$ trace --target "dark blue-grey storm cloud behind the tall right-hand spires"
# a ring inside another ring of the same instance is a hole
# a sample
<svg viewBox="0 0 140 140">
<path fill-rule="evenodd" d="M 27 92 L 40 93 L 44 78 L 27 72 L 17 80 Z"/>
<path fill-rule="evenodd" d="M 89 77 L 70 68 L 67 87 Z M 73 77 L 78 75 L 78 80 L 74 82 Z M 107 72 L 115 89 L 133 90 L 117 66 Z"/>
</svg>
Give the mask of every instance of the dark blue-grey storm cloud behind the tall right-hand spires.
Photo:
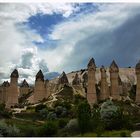
<svg viewBox="0 0 140 140">
<path fill-rule="evenodd" d="M 135 66 L 140 60 L 140 14 L 127 19 L 119 27 L 93 33 L 80 40 L 71 54 L 73 60 L 69 64 L 76 69 L 86 67 L 91 57 L 95 58 L 97 66 L 109 66 L 113 59 L 120 67 Z M 93 29 L 94 30 L 94 29 Z M 75 65 L 74 65 L 75 63 Z"/>
</svg>

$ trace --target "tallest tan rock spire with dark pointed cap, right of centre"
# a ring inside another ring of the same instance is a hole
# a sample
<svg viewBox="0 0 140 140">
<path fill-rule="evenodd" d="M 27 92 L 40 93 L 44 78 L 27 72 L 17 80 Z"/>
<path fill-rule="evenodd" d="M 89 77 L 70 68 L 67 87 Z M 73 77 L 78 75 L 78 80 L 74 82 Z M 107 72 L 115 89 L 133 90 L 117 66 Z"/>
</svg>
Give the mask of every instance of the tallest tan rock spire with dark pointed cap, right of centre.
<svg viewBox="0 0 140 140">
<path fill-rule="evenodd" d="M 97 103 L 96 87 L 95 87 L 95 71 L 96 65 L 92 58 L 88 63 L 88 87 L 87 87 L 87 101 L 92 107 Z"/>
</svg>

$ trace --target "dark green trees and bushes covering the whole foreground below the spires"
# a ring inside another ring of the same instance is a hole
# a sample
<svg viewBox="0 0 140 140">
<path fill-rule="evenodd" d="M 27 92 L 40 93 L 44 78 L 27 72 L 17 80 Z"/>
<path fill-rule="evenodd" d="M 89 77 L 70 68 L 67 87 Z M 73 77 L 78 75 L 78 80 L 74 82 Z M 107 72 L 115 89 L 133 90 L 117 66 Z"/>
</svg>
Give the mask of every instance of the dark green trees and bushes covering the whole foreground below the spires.
<svg viewBox="0 0 140 140">
<path fill-rule="evenodd" d="M 44 102 L 36 106 L 28 105 L 25 111 L 13 116 L 4 104 L 0 104 L 0 117 L 4 119 L 0 121 L 0 135 L 126 137 L 140 122 L 140 108 L 131 100 L 108 99 L 91 109 L 85 97 L 74 94 L 69 86 L 64 86 L 58 95 L 58 100 L 52 106 Z M 132 95 L 135 95 L 135 87 L 130 90 Z"/>
</svg>

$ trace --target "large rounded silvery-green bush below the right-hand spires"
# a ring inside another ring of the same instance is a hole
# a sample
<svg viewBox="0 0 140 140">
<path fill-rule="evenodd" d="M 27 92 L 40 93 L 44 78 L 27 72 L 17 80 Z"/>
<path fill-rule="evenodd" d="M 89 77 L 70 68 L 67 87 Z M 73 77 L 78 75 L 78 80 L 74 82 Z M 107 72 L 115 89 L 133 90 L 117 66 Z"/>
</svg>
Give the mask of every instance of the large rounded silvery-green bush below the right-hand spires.
<svg viewBox="0 0 140 140">
<path fill-rule="evenodd" d="M 106 101 L 101 105 L 101 119 L 105 123 L 106 129 L 121 129 L 131 127 L 129 118 L 123 114 L 123 110 L 114 105 L 112 101 Z"/>
</svg>

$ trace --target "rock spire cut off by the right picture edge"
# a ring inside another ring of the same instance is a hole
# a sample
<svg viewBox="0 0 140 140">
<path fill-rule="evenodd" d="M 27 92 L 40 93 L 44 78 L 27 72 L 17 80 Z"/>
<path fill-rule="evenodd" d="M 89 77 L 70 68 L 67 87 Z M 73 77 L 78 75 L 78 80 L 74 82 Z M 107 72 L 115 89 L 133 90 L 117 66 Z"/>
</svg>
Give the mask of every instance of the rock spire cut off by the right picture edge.
<svg viewBox="0 0 140 140">
<path fill-rule="evenodd" d="M 140 61 L 135 66 L 137 86 L 136 86 L 136 103 L 140 103 Z"/>
</svg>

